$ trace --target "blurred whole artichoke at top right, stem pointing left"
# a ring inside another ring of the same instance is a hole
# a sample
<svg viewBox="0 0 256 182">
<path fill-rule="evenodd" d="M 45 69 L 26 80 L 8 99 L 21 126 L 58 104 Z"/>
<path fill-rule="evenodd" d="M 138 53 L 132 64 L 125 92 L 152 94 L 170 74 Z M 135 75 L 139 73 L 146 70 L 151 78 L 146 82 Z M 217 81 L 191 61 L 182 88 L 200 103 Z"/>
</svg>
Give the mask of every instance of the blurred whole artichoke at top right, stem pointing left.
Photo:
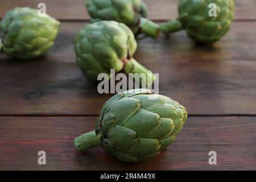
<svg viewBox="0 0 256 182">
<path fill-rule="evenodd" d="M 209 15 L 210 3 L 215 3 L 217 16 Z M 184 29 L 196 43 L 213 43 L 229 31 L 234 9 L 233 0 L 180 0 L 179 18 L 163 23 L 161 29 L 167 35 Z"/>
</svg>

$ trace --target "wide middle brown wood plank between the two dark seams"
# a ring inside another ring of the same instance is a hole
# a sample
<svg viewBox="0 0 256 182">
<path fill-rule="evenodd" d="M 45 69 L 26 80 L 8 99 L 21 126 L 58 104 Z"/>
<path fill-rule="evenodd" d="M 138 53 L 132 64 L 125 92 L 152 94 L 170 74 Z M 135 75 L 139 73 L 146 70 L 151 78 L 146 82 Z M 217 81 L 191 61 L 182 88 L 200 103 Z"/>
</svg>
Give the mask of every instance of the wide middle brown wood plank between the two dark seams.
<svg viewBox="0 0 256 182">
<path fill-rule="evenodd" d="M 0 55 L 0 114 L 98 115 L 111 94 L 82 76 L 73 42 L 84 23 L 62 23 L 55 46 L 38 60 Z M 244 28 L 246 27 L 246 28 Z M 256 23 L 236 22 L 213 47 L 185 32 L 139 41 L 135 59 L 160 73 L 160 93 L 192 115 L 256 114 Z"/>
</svg>

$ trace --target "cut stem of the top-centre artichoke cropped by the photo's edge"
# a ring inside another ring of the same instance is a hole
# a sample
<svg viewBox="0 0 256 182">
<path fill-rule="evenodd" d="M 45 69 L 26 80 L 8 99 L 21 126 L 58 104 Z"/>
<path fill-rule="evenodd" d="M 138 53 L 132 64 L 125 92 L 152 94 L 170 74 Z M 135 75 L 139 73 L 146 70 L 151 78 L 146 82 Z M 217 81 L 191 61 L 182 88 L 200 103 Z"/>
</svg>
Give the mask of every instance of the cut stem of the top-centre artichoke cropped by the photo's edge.
<svg viewBox="0 0 256 182">
<path fill-rule="evenodd" d="M 152 22 L 149 19 L 141 17 L 141 31 L 144 34 L 147 34 L 148 36 L 151 36 L 152 38 L 158 38 L 160 35 L 160 26 L 159 24 L 156 24 Z"/>
</svg>

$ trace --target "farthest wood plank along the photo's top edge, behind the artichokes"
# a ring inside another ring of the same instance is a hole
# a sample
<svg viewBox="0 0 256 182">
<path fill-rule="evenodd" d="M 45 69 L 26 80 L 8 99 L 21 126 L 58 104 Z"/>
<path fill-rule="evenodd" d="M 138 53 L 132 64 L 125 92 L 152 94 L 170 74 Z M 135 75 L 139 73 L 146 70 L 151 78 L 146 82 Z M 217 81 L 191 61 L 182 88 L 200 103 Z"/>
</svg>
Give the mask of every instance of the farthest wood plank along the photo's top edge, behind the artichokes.
<svg viewBox="0 0 256 182">
<path fill-rule="evenodd" d="M 168 20 L 177 17 L 177 3 L 179 0 L 144 0 L 147 3 L 149 9 L 149 18 L 152 20 Z M 32 8 L 38 8 L 40 0 L 1 0 L 0 2 L 0 17 L 5 15 L 7 11 L 13 7 L 29 6 Z M 46 11 L 53 17 L 61 20 L 88 20 L 89 15 L 85 10 L 85 0 L 45 0 Z M 236 0 L 236 19 L 256 19 L 254 14 L 254 7 L 256 6 L 255 0 Z"/>
</svg>

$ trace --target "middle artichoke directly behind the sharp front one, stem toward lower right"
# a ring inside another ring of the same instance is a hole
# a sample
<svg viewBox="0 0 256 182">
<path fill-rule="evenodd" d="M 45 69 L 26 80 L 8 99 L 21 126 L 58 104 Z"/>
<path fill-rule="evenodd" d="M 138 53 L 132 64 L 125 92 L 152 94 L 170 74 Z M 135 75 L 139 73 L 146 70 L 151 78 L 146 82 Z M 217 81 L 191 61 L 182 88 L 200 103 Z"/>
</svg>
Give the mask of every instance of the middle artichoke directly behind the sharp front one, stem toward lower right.
<svg viewBox="0 0 256 182">
<path fill-rule="evenodd" d="M 123 23 L 103 20 L 86 25 L 76 36 L 74 49 L 77 65 L 90 80 L 97 82 L 100 73 L 110 78 L 110 69 L 116 73 L 150 73 L 147 85 L 155 80 L 151 71 L 133 59 L 137 42 Z M 136 81 L 140 82 L 139 78 Z"/>
</svg>

